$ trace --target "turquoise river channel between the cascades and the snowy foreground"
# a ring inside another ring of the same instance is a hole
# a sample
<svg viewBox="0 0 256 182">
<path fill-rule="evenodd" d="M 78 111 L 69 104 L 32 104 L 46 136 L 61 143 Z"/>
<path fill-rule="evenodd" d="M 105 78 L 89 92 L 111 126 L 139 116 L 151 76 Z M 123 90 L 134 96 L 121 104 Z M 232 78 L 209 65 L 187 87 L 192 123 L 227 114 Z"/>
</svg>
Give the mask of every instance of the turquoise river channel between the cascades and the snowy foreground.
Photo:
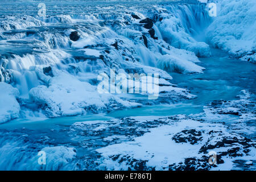
<svg viewBox="0 0 256 182">
<path fill-rule="evenodd" d="M 127 110 L 116 110 L 108 114 L 88 114 L 77 117 L 60 117 L 52 119 L 34 119 L 33 121 L 15 119 L 0 125 L 0 129 L 30 128 L 34 130 L 50 129 L 55 126 L 70 126 L 75 122 L 108 120 L 130 116 L 196 114 L 203 111 L 203 106 L 213 100 L 234 100 L 240 91 L 247 89 L 255 93 L 255 69 L 253 63 L 230 59 L 218 49 L 212 49 L 212 56 L 201 58 L 204 73 L 181 75 L 170 73 L 172 83 L 187 88 L 197 97 L 171 105 L 152 105 Z M 146 99 L 147 97 L 145 97 Z"/>
</svg>

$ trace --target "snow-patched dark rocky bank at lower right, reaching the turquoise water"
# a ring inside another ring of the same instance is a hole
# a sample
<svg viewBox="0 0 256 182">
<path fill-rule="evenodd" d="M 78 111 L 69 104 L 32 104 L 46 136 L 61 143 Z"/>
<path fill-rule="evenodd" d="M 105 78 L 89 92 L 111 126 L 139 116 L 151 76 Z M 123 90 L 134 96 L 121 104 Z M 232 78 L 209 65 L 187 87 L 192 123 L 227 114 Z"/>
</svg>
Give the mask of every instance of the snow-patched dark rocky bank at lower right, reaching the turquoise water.
<svg viewBox="0 0 256 182">
<path fill-rule="evenodd" d="M 255 95 L 242 90 L 239 97 L 234 101 L 214 101 L 205 107 L 204 113 L 195 115 L 131 118 L 133 123 L 143 122 L 144 125 L 154 119 L 162 126 L 127 142 L 116 141 L 97 149 L 104 159 L 99 167 L 109 170 L 254 170 L 255 126 L 250 121 L 255 120 L 255 101 L 251 98 Z M 217 155 L 214 165 L 208 163 L 210 151 Z"/>
</svg>

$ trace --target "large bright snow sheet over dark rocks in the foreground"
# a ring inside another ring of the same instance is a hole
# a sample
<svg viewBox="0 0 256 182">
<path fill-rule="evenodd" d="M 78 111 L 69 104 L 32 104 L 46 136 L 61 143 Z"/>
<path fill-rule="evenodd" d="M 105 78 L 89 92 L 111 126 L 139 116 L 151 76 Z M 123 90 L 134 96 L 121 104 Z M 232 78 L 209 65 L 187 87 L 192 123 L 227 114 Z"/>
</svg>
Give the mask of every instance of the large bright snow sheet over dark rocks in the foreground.
<svg viewBox="0 0 256 182">
<path fill-rule="evenodd" d="M 233 169 L 236 160 L 251 160 L 255 155 L 248 156 L 243 151 L 247 148 L 247 144 L 243 146 L 243 142 L 249 140 L 228 131 L 225 125 L 200 122 L 184 115 L 176 117 L 179 121 L 170 121 L 167 125 L 154 127 L 141 137 L 96 149 L 102 155 L 100 168 L 108 170 L 141 170 L 142 168 L 147 170 L 230 170 Z M 140 121 L 139 117 L 134 119 Z M 162 121 L 162 119 L 158 118 L 156 121 Z M 144 121 L 144 125 L 149 121 L 150 118 Z M 218 144 L 220 142 L 223 142 L 223 145 Z M 236 153 L 229 155 L 229 151 L 237 148 Z M 223 163 L 218 160 L 216 166 L 211 167 L 208 164 L 208 152 L 212 150 L 216 152 L 217 159 L 224 160 Z M 249 150 L 254 151 L 253 144 L 249 145 Z M 251 162 L 245 164 L 250 165 Z"/>
</svg>

